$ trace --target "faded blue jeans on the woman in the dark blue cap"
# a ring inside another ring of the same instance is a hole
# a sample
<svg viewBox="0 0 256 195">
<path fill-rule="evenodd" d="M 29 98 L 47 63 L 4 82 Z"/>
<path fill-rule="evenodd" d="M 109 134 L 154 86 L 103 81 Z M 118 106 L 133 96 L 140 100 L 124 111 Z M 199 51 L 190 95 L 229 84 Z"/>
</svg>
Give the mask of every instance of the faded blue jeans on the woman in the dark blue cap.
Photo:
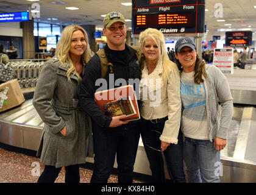
<svg viewBox="0 0 256 195">
<path fill-rule="evenodd" d="M 190 183 L 219 183 L 216 172 L 220 162 L 220 152 L 213 147 L 214 140 L 194 140 L 185 137 L 183 143 L 184 160 Z"/>
</svg>

